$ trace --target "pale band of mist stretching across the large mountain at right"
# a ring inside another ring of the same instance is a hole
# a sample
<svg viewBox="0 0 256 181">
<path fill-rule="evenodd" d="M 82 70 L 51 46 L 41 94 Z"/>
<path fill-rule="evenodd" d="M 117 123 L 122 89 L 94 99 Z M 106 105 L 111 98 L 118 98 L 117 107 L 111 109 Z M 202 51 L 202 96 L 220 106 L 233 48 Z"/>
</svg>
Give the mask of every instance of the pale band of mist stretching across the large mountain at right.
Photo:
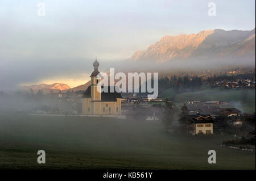
<svg viewBox="0 0 256 181">
<path fill-rule="evenodd" d="M 201 71 L 205 69 L 222 69 L 222 68 L 255 68 L 254 57 L 248 56 L 241 59 L 237 58 L 191 58 L 189 60 L 171 60 L 167 62 L 147 61 L 124 61 L 119 65 L 118 71 L 148 71 L 158 73 L 169 73 L 171 71 Z"/>
</svg>

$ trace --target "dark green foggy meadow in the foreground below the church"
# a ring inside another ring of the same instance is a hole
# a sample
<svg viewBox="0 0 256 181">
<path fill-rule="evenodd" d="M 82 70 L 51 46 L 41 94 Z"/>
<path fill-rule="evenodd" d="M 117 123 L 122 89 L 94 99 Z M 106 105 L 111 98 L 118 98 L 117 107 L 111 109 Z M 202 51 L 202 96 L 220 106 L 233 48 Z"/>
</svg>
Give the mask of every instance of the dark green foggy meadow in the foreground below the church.
<svg viewBox="0 0 256 181">
<path fill-rule="evenodd" d="M 176 136 L 162 124 L 100 117 L 0 116 L 0 169 L 255 169 L 255 153 L 219 146 L 229 136 Z M 212 149 L 216 164 L 207 162 Z"/>
</svg>

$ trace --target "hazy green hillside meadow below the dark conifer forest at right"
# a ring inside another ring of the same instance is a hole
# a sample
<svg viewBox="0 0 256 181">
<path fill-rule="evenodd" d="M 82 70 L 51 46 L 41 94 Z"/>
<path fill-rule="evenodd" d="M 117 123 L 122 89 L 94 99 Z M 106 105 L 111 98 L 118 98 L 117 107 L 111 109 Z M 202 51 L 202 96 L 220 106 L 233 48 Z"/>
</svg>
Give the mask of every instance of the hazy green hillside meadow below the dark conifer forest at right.
<svg viewBox="0 0 256 181">
<path fill-rule="evenodd" d="M 185 102 L 191 100 L 223 100 L 229 102 L 228 107 L 236 107 L 242 112 L 255 112 L 255 89 L 231 90 L 222 88 L 209 88 L 204 86 L 203 90 L 176 94 L 174 89 L 167 89 L 160 96 L 172 98 L 174 102 Z"/>
</svg>

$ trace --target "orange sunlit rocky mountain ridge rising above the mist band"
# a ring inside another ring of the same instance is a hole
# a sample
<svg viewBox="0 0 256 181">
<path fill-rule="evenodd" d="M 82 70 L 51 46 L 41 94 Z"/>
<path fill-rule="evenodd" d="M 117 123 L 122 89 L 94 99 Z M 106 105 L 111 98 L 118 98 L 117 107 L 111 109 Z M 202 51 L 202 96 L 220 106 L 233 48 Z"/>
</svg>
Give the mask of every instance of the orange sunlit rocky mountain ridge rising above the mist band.
<svg viewBox="0 0 256 181">
<path fill-rule="evenodd" d="M 146 50 L 133 54 L 130 61 L 166 62 L 170 60 L 255 56 L 255 29 L 253 31 L 200 31 L 197 34 L 165 36 Z"/>
</svg>

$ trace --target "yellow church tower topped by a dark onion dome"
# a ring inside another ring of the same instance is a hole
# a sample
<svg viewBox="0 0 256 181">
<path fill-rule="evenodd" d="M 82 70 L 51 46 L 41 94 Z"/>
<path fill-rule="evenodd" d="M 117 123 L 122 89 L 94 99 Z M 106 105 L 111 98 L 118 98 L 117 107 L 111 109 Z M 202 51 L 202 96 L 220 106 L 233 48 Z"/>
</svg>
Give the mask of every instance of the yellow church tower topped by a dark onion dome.
<svg viewBox="0 0 256 181">
<path fill-rule="evenodd" d="M 93 66 L 94 66 L 94 71 L 92 72 L 92 74 L 90 75 L 91 78 L 91 96 L 92 96 L 92 102 L 93 101 L 101 101 L 101 86 L 98 86 L 97 89 L 97 84 L 100 81 L 99 79 L 97 79 L 97 75 L 100 74 L 100 72 L 98 71 L 98 66 L 100 66 L 100 63 L 96 60 L 93 62 Z"/>
</svg>

